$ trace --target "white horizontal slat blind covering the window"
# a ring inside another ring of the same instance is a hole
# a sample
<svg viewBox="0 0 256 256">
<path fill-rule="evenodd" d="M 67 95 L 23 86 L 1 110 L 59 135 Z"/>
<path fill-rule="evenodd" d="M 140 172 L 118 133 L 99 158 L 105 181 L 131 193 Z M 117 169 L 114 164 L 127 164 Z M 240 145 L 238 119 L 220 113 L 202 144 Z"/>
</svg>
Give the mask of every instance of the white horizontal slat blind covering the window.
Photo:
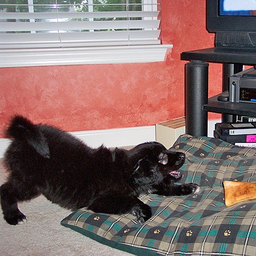
<svg viewBox="0 0 256 256">
<path fill-rule="evenodd" d="M 1 0 L 0 56 L 160 45 L 159 16 L 159 0 Z"/>
</svg>

